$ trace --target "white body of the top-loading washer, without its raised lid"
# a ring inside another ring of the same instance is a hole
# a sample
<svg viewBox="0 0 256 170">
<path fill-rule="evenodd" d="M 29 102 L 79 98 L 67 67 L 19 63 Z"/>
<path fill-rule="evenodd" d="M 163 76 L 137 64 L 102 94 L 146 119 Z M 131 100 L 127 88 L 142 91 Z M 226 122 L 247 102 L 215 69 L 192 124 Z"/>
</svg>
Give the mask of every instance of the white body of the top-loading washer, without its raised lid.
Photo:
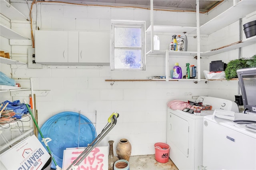
<svg viewBox="0 0 256 170">
<path fill-rule="evenodd" d="M 256 115 L 235 113 L 234 117 L 256 123 Z M 256 129 L 248 125 L 256 124 L 204 117 L 203 166 L 207 170 L 256 170 Z"/>
</svg>

